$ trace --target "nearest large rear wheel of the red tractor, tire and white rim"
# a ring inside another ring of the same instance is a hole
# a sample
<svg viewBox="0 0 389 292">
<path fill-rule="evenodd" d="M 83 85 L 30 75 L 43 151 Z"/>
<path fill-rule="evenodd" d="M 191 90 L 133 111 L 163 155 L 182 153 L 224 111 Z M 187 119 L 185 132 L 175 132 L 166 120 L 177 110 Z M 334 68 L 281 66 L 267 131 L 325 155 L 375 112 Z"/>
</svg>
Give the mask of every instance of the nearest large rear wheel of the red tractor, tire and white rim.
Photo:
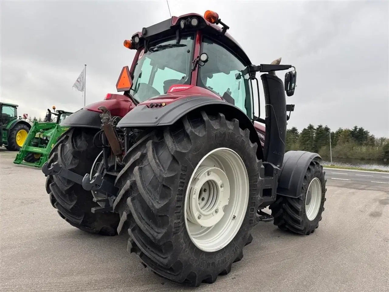
<svg viewBox="0 0 389 292">
<path fill-rule="evenodd" d="M 249 134 L 237 119 L 201 112 L 144 135 L 116 179 L 114 210 L 118 232 L 130 235 L 128 251 L 156 274 L 191 286 L 230 273 L 252 241 L 259 204 L 261 161 Z"/>
</svg>

